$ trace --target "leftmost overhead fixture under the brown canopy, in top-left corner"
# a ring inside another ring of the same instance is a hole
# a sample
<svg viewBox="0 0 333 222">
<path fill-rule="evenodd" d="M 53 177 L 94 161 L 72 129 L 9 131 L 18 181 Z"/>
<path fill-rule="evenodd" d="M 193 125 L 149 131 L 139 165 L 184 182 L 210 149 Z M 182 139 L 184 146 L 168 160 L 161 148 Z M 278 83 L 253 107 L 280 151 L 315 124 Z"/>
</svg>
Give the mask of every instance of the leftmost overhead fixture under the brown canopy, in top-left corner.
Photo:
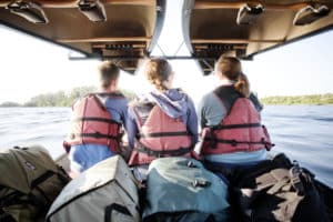
<svg viewBox="0 0 333 222">
<path fill-rule="evenodd" d="M 13 1 L 7 6 L 11 13 L 18 14 L 32 23 L 48 23 L 41 6 L 34 2 Z"/>
</svg>

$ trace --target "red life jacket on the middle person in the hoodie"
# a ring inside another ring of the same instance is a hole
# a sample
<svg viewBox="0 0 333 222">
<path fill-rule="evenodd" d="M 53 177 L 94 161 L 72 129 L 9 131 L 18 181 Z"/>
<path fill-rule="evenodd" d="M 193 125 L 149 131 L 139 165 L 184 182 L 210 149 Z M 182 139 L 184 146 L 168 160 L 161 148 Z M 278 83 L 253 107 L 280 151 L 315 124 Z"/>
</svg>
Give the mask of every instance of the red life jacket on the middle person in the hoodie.
<svg viewBox="0 0 333 222">
<path fill-rule="evenodd" d="M 149 164 L 161 157 L 190 157 L 191 133 L 180 118 L 173 119 L 152 102 L 132 105 L 139 127 L 130 165 Z"/>
</svg>

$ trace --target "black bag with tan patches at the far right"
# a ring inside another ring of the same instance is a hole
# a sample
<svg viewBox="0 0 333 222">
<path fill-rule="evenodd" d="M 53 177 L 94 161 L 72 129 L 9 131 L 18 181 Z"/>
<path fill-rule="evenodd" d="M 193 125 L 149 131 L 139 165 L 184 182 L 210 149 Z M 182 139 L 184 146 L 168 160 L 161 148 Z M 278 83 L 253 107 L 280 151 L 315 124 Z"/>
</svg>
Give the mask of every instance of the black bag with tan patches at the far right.
<svg viewBox="0 0 333 222">
<path fill-rule="evenodd" d="M 330 221 L 314 175 L 284 154 L 238 173 L 233 196 L 239 220 Z"/>
</svg>

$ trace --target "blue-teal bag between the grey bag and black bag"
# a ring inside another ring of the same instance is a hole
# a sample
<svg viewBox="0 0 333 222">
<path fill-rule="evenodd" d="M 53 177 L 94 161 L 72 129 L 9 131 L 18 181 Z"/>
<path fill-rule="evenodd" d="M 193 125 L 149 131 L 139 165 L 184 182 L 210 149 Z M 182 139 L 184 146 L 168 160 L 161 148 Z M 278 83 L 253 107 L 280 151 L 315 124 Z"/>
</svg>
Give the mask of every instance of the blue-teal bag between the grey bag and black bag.
<svg viewBox="0 0 333 222">
<path fill-rule="evenodd" d="M 160 158 L 149 167 L 143 221 L 225 221 L 228 188 L 201 162 Z"/>
</svg>

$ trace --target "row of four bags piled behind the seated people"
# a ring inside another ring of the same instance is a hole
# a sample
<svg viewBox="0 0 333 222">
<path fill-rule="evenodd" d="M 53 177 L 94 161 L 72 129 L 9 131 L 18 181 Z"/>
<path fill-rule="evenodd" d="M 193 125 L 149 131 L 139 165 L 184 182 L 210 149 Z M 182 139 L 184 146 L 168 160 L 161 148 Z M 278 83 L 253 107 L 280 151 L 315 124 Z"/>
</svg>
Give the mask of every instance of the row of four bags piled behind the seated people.
<svg viewBox="0 0 333 222">
<path fill-rule="evenodd" d="M 145 186 L 120 155 L 71 181 L 41 147 L 4 150 L 0 160 L 1 222 L 332 220 L 314 175 L 283 154 L 235 169 L 228 182 L 200 161 L 160 158 Z"/>
</svg>

